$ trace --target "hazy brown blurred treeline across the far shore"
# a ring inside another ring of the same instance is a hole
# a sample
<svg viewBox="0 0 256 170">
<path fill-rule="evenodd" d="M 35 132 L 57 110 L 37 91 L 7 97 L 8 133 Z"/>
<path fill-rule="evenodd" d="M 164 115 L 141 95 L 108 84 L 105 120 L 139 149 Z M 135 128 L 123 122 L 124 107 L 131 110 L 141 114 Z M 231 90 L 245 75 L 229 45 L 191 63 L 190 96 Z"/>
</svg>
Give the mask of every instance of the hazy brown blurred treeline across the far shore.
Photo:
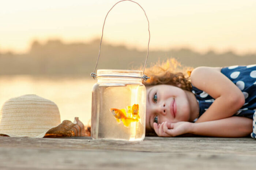
<svg viewBox="0 0 256 170">
<path fill-rule="evenodd" d="M 89 76 L 93 72 L 99 50 L 99 40 L 90 43 L 65 44 L 49 40 L 46 44 L 34 41 L 29 52 L 0 53 L 0 75 L 77 75 Z M 103 44 L 97 69 L 138 69 L 143 66 L 146 51 L 127 49 L 125 46 Z M 198 53 L 191 49 L 151 50 L 148 63 L 176 58 L 190 67 L 256 64 L 256 54 L 237 55 L 233 52 L 217 54 L 214 51 Z"/>
</svg>

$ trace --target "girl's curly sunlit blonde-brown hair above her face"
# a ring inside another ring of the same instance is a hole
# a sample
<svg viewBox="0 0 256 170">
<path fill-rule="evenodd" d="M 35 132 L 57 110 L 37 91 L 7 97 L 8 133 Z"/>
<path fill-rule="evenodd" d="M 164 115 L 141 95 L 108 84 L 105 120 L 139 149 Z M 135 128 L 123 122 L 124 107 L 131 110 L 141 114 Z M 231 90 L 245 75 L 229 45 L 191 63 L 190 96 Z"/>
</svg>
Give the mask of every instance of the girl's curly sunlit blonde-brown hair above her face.
<svg viewBox="0 0 256 170">
<path fill-rule="evenodd" d="M 190 73 L 191 67 L 181 67 L 181 64 L 175 58 L 169 58 L 165 62 L 152 65 L 145 69 L 145 74 L 150 77 L 145 86 L 158 84 L 169 84 L 180 87 L 182 90 L 191 91 Z M 186 72 L 186 73 L 185 73 Z"/>
</svg>

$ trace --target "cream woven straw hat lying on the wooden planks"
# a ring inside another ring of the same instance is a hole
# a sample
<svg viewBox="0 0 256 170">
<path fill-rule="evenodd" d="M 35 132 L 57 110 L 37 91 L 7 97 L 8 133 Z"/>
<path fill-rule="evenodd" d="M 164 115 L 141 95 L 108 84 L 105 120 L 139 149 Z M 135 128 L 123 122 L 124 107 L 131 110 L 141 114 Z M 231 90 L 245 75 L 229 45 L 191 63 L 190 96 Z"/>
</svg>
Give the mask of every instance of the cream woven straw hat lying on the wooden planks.
<svg viewBox="0 0 256 170">
<path fill-rule="evenodd" d="M 11 98 L 0 110 L 0 134 L 12 137 L 44 137 L 60 123 L 57 105 L 37 95 Z"/>
</svg>

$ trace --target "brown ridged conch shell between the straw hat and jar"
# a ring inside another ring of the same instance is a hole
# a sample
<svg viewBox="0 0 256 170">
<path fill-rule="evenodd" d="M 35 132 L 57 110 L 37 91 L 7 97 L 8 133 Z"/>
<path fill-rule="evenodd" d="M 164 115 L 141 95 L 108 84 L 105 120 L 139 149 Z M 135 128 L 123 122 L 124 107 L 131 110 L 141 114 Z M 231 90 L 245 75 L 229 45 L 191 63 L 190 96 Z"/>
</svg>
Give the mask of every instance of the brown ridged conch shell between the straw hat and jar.
<svg viewBox="0 0 256 170">
<path fill-rule="evenodd" d="M 87 136 L 87 135 L 89 136 L 91 134 L 88 134 L 88 132 L 86 134 L 83 123 L 78 119 L 78 117 L 75 117 L 74 123 L 72 123 L 69 120 L 64 120 L 60 125 L 46 132 L 44 137 L 57 137 L 57 136 L 73 137 L 73 136 Z"/>
</svg>

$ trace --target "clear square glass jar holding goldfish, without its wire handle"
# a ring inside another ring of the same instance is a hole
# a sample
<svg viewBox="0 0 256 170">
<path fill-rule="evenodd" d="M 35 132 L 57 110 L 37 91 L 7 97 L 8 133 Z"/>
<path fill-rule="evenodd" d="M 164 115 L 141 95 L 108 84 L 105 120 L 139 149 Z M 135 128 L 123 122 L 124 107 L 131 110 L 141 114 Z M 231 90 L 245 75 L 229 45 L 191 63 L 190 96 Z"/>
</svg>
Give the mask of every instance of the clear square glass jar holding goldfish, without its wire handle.
<svg viewBox="0 0 256 170">
<path fill-rule="evenodd" d="M 92 90 L 93 139 L 142 141 L 145 137 L 146 87 L 143 71 L 99 69 Z"/>
</svg>

